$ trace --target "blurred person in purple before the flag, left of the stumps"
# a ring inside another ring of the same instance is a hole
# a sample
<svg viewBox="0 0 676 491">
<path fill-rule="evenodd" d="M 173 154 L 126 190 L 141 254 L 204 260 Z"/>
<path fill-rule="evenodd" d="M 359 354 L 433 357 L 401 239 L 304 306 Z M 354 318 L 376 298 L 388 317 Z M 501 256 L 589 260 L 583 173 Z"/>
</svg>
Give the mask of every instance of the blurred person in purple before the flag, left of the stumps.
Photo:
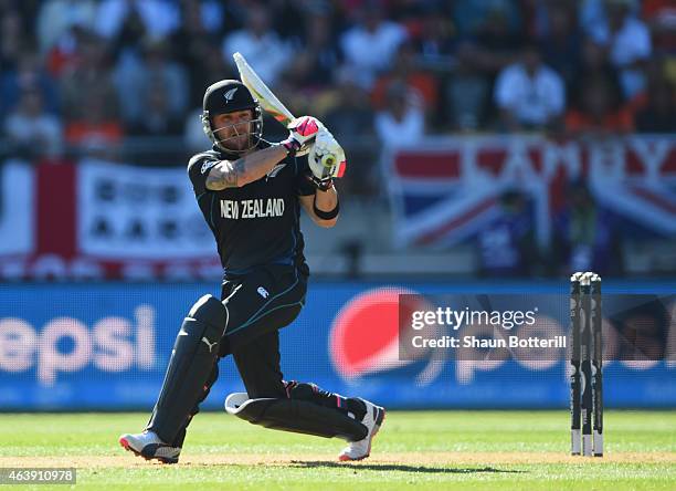
<svg viewBox="0 0 676 491">
<path fill-rule="evenodd" d="M 530 276 L 538 267 L 532 211 L 516 190 L 500 196 L 500 215 L 477 237 L 479 274 L 487 278 Z"/>
</svg>

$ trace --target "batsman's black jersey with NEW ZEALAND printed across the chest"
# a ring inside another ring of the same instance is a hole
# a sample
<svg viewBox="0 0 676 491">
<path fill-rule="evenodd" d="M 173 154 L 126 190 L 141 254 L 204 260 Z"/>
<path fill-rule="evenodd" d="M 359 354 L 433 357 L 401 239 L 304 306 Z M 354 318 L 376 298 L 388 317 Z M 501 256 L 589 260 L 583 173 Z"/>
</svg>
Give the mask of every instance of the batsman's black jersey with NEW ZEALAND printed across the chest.
<svg viewBox="0 0 676 491">
<path fill-rule="evenodd" d="M 258 149 L 270 144 L 261 142 Z M 267 176 L 240 188 L 207 189 L 209 170 L 219 160 L 236 160 L 216 147 L 194 155 L 188 175 L 198 205 L 216 240 L 224 275 L 256 267 L 289 264 L 307 271 L 303 255 L 298 196 L 315 194 L 305 175 L 307 157 L 286 157 Z"/>
</svg>

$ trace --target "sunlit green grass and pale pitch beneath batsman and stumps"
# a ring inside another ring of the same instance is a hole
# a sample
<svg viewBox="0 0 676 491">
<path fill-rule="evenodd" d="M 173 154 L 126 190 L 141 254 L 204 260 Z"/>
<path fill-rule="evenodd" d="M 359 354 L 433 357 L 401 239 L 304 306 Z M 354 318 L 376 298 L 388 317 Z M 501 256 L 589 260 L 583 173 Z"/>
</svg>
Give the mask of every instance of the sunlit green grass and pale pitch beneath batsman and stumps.
<svg viewBox="0 0 676 491">
<path fill-rule="evenodd" d="M 222 412 L 198 415 L 179 464 L 148 463 L 117 443 L 147 416 L 0 415 L 0 467 L 76 467 L 74 488 L 92 490 L 676 489 L 676 411 L 608 410 L 602 459 L 568 456 L 562 410 L 391 411 L 371 458 L 349 464 L 336 461 L 340 440 Z M 17 487 L 50 488 L 67 489 Z"/>
</svg>

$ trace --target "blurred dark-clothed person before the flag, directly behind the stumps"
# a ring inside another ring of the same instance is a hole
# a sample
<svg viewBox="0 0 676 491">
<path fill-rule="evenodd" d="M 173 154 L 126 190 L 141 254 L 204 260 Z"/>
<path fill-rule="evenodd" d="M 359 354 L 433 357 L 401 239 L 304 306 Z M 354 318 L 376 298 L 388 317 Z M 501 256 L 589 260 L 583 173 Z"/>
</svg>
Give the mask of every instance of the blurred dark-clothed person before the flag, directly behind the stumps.
<svg viewBox="0 0 676 491">
<path fill-rule="evenodd" d="M 623 241 L 614 217 L 596 206 L 587 182 L 573 182 L 567 196 L 569 202 L 553 220 L 551 263 L 561 268 L 554 274 L 621 275 Z"/>
</svg>

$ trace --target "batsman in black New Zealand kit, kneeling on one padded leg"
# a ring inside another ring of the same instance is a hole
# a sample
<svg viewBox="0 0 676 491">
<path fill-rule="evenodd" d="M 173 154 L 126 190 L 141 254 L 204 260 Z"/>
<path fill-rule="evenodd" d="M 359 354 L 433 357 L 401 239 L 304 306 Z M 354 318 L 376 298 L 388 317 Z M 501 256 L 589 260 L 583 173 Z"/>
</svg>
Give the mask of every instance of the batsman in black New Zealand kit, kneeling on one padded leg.
<svg viewBox="0 0 676 491">
<path fill-rule="evenodd" d="M 178 462 L 219 359 L 232 355 L 246 393 L 228 397 L 229 412 L 276 430 L 339 437 L 348 441 L 340 460 L 367 458 L 384 409 L 285 382 L 279 365 L 279 330 L 303 309 L 309 275 L 300 208 L 320 227 L 334 227 L 339 212 L 332 179 L 313 156 L 319 145 L 345 154 L 310 116 L 294 119 L 285 140 L 264 140 L 258 101 L 237 80 L 207 88 L 202 123 L 213 147 L 190 159 L 188 175 L 223 264 L 221 299 L 204 295 L 190 309 L 146 429 L 119 443 L 146 459 Z"/>
</svg>

